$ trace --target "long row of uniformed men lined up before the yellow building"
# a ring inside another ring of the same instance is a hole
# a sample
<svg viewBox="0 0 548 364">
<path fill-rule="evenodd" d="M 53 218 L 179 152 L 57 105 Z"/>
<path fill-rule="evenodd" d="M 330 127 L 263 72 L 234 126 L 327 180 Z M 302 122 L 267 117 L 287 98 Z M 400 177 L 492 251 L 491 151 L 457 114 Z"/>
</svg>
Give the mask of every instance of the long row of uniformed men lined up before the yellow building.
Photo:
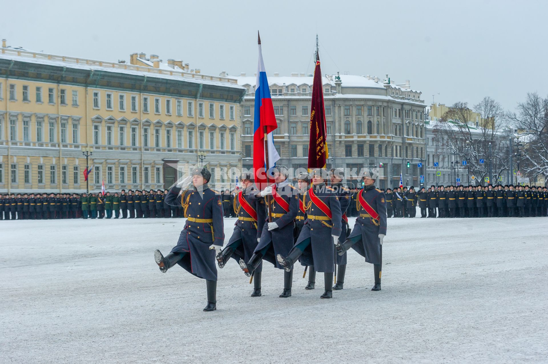
<svg viewBox="0 0 548 364">
<path fill-rule="evenodd" d="M 183 217 L 181 206 L 164 201 L 168 190 L 128 190 L 102 193 L 0 194 L 0 220 L 64 218 Z M 235 193 L 221 193 L 225 217 L 236 216 Z"/>
</svg>

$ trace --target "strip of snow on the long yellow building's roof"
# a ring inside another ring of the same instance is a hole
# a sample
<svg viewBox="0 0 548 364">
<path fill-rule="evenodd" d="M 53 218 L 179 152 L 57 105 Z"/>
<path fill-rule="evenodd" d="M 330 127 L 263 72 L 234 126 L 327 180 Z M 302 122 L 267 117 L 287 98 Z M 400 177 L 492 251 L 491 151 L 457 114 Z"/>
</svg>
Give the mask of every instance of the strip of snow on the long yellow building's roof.
<svg viewBox="0 0 548 364">
<path fill-rule="evenodd" d="M 157 77 L 189 83 L 224 86 L 236 89 L 244 89 L 235 82 L 234 77 L 209 76 L 202 73 L 181 72 L 177 69 L 165 66 L 152 68 L 146 66 L 134 66 L 128 63 L 114 63 L 107 61 L 78 59 L 76 57 L 56 56 L 44 53 L 28 52 L 1 48 L 0 59 L 14 60 L 18 62 L 35 63 L 56 67 L 67 67 L 77 70 L 94 70 L 112 73 L 131 74 L 133 76 Z"/>
</svg>

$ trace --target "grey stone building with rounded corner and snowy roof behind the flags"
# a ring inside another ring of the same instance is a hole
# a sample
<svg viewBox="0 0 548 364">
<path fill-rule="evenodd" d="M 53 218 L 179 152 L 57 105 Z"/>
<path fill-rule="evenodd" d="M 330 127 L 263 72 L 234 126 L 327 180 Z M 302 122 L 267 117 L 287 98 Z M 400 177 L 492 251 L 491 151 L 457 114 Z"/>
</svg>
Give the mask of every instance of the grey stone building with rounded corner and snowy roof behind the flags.
<svg viewBox="0 0 548 364">
<path fill-rule="evenodd" d="M 256 76 L 235 77 L 247 89 L 241 105 L 242 167 L 253 165 L 253 115 Z M 326 110 L 328 167 L 359 172 L 379 168 L 378 186 L 419 183 L 418 163 L 425 158 L 425 104 L 409 80 L 396 84 L 370 76 L 328 74 L 322 78 Z M 294 169 L 307 166 L 312 75 L 292 73 L 269 76 L 272 103 L 278 122 L 274 142 L 279 163 Z M 410 166 L 407 167 L 407 161 Z M 347 183 L 356 183 L 349 178 Z"/>
</svg>

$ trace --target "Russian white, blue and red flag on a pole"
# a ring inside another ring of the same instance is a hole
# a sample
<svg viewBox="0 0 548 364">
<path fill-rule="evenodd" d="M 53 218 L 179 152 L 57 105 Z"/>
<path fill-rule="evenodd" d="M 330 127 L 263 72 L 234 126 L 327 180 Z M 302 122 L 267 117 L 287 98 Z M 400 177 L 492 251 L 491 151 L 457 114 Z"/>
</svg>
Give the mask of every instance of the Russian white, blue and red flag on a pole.
<svg viewBox="0 0 548 364">
<path fill-rule="evenodd" d="M 265 175 L 266 165 L 271 168 L 279 159 L 272 137 L 272 131 L 277 127 L 278 123 L 276 122 L 274 107 L 272 106 L 272 99 L 270 97 L 269 82 L 266 79 L 265 63 L 262 61 L 261 38 L 259 37 L 259 64 L 255 83 L 255 115 L 253 125 L 253 169 L 257 186 L 261 186 L 262 183 L 267 182 Z M 268 164 L 266 163 L 265 152 L 268 152 Z"/>
</svg>

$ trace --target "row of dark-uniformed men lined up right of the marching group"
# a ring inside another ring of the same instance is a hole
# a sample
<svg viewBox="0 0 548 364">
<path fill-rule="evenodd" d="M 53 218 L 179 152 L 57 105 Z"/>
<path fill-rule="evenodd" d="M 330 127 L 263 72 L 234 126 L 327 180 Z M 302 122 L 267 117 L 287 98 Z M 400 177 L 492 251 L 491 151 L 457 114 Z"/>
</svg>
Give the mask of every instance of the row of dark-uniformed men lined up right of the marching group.
<svg viewBox="0 0 548 364">
<path fill-rule="evenodd" d="M 387 188 L 388 217 L 535 217 L 548 216 L 548 190 L 541 186 L 413 186 Z M 355 211 L 352 211 L 355 213 Z"/>
</svg>

